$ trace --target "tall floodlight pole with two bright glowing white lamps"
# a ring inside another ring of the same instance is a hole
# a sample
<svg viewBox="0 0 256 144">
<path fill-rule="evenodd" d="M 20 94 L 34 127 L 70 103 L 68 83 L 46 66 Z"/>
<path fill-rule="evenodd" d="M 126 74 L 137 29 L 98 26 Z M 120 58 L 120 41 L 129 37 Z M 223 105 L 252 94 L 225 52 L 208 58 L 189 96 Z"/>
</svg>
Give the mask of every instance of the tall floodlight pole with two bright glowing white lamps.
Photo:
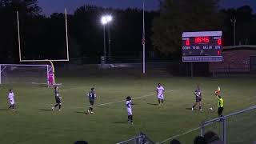
<svg viewBox="0 0 256 144">
<path fill-rule="evenodd" d="M 110 40 L 110 22 L 112 21 L 112 16 L 111 15 L 103 15 L 101 22 L 103 25 L 103 33 L 104 33 L 104 58 L 106 59 L 106 34 L 105 34 L 105 29 L 106 25 L 108 25 L 108 42 L 109 42 L 109 58 L 110 58 L 110 53 L 111 53 L 111 40 Z"/>
</svg>

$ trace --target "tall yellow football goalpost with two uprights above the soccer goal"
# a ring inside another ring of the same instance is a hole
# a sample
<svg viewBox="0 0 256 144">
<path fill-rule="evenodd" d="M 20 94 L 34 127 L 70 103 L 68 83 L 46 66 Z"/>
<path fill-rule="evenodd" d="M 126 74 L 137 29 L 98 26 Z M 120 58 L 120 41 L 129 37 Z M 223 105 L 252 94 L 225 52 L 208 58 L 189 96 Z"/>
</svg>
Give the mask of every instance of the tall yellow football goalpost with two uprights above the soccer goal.
<svg viewBox="0 0 256 144">
<path fill-rule="evenodd" d="M 18 24 L 18 53 L 19 53 L 18 56 L 19 56 L 19 62 L 50 62 L 50 65 L 52 66 L 52 69 L 53 69 L 53 82 L 55 84 L 55 69 L 54 69 L 54 63 L 53 62 L 69 62 L 70 61 L 66 8 L 65 8 L 66 59 L 22 59 L 21 37 L 20 37 L 20 25 L 19 25 L 19 14 L 18 14 L 18 11 L 17 11 L 17 24 Z M 49 68 L 47 66 L 47 71 L 48 70 L 49 70 Z M 0 77 L 1 77 L 1 74 L 0 74 Z M 48 73 L 47 73 L 47 78 L 49 78 L 49 74 Z M 1 82 L 0 82 L 0 84 L 1 84 Z"/>
</svg>

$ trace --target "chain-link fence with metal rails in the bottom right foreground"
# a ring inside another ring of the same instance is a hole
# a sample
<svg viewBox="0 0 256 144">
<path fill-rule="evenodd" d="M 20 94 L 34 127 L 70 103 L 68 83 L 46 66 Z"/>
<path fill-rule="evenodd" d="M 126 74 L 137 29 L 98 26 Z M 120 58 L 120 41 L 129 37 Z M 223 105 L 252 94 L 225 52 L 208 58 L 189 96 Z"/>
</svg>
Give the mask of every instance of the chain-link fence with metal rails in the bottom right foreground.
<svg viewBox="0 0 256 144">
<path fill-rule="evenodd" d="M 255 110 L 256 106 L 251 106 L 246 110 L 227 114 L 222 118 L 202 122 L 201 126 L 166 138 L 158 144 L 167 144 L 173 139 L 178 139 L 181 143 L 193 143 L 197 136 L 204 137 L 208 143 L 253 144 L 256 142 Z"/>
</svg>

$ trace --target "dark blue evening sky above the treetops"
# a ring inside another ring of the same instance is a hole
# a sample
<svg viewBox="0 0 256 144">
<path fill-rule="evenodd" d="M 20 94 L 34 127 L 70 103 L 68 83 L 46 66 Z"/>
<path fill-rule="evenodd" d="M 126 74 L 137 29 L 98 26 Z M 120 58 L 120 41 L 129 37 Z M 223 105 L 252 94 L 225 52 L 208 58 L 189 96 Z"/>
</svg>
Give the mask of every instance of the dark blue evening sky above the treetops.
<svg viewBox="0 0 256 144">
<path fill-rule="evenodd" d="M 157 10 L 158 0 L 145 0 L 147 10 Z M 85 4 L 114 7 L 114 8 L 127 8 L 127 7 L 142 7 L 142 0 L 38 0 L 38 5 L 42 7 L 43 14 L 49 15 L 54 12 L 63 12 L 66 7 L 69 13 Z M 256 0 L 222 0 L 221 7 L 239 7 L 249 5 L 254 8 L 256 12 Z"/>
</svg>

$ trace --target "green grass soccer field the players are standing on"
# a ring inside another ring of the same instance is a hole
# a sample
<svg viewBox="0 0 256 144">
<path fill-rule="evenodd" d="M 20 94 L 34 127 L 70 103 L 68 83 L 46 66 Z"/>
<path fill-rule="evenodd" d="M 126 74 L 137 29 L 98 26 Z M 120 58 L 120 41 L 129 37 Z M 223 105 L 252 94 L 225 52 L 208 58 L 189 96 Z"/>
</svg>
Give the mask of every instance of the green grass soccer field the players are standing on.
<svg viewBox="0 0 256 144">
<path fill-rule="evenodd" d="M 143 78 L 124 75 L 58 78 L 58 82 L 62 83 L 61 112 L 51 110 L 54 105 L 54 90 L 51 88 L 21 84 L 0 86 L 0 143 L 70 144 L 86 140 L 89 143 L 106 144 L 126 140 L 140 131 L 154 142 L 161 142 L 198 127 L 202 121 L 216 118 L 217 99 L 214 97 L 214 90 L 218 86 L 222 88 L 225 101 L 224 114 L 255 105 L 254 78 Z M 166 89 L 164 106 L 157 105 L 155 87 L 158 82 Z M 190 107 L 194 103 L 194 88 L 197 84 L 202 87 L 203 111 L 192 112 Z M 94 107 L 96 114 L 85 114 L 89 106 L 85 94 L 92 86 L 96 88 L 98 95 Z M 7 110 L 6 95 L 10 88 L 14 89 L 16 110 Z M 125 102 L 120 102 L 128 95 L 136 98 L 133 100 L 133 126 L 126 122 Z M 210 107 L 214 110 L 209 110 Z M 242 143 L 256 140 L 255 115 L 250 113 L 246 117 L 237 117 L 241 121 L 237 120 L 234 126 L 230 126 L 230 138 L 245 138 Z M 249 127 L 243 129 L 246 126 Z M 214 129 L 217 130 L 211 130 Z M 199 130 L 178 139 L 183 143 L 192 143 L 194 136 L 198 134 Z"/>
</svg>

